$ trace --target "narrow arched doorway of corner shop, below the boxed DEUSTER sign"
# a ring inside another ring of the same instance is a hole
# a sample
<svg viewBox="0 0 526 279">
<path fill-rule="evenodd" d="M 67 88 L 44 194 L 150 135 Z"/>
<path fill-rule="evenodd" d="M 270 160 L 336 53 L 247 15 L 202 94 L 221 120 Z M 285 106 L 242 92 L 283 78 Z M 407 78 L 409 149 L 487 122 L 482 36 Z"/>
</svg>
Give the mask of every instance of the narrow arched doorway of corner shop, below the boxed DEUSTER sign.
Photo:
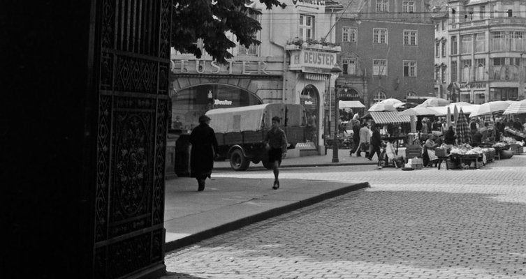
<svg viewBox="0 0 526 279">
<path fill-rule="evenodd" d="M 307 116 L 306 140 L 314 143 L 314 148 L 316 148 L 319 133 L 319 92 L 316 86 L 309 84 L 303 88 L 300 94 L 300 104 L 305 107 L 305 116 Z"/>
</svg>

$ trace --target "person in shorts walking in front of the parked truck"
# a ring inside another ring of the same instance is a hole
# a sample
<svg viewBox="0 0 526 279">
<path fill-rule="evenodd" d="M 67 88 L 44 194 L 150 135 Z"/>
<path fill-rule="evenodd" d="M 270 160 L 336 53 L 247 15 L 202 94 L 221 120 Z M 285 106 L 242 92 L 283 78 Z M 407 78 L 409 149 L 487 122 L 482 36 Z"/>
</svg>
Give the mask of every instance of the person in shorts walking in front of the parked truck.
<svg viewBox="0 0 526 279">
<path fill-rule="evenodd" d="M 268 150 L 268 161 L 272 164 L 272 171 L 274 172 L 274 186 L 272 189 L 279 188 L 279 165 L 282 163 L 282 158 L 286 156 L 286 135 L 282 128 L 279 128 L 278 116 L 272 117 L 272 128 L 268 130 L 265 136 L 265 148 Z"/>
</svg>

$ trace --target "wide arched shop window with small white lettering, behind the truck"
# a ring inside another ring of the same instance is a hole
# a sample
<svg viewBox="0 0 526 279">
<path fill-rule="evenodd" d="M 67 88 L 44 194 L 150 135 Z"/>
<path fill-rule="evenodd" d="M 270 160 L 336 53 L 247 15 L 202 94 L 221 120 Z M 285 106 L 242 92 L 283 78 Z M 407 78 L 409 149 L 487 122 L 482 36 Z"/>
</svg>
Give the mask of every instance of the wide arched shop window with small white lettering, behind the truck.
<svg viewBox="0 0 526 279">
<path fill-rule="evenodd" d="M 263 102 L 254 93 L 226 84 L 200 84 L 172 96 L 172 127 L 191 130 L 199 116 L 213 108 L 244 107 Z"/>
</svg>

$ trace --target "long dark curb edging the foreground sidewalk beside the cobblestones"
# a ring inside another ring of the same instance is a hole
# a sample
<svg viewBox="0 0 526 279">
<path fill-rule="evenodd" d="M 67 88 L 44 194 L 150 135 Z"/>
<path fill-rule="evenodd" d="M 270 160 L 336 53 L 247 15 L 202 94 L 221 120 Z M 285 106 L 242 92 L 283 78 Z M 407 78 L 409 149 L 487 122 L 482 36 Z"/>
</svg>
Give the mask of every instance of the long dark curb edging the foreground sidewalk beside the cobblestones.
<svg viewBox="0 0 526 279">
<path fill-rule="evenodd" d="M 223 225 L 219 225 L 218 227 L 214 227 L 212 229 L 207 229 L 203 232 L 198 232 L 197 234 L 193 234 L 191 236 L 184 237 L 182 239 L 177 239 L 175 241 L 170 241 L 168 243 L 164 243 L 164 252 L 170 252 L 172 250 L 176 250 L 179 248 L 183 248 L 185 246 L 189 246 L 193 243 L 197 243 L 199 241 L 210 239 L 212 236 L 217 236 L 219 234 L 224 234 L 226 232 L 233 231 L 235 229 L 240 229 L 241 227 L 251 225 L 254 223 L 258 223 L 259 221 L 266 220 L 268 218 L 272 218 L 275 216 L 282 215 L 284 213 L 288 213 L 291 211 L 294 211 L 296 209 L 300 209 L 305 206 L 309 206 L 312 204 L 316 204 L 318 202 L 322 202 L 325 199 L 330 199 L 333 197 L 337 197 L 339 195 L 344 195 L 346 193 L 351 193 L 356 190 L 360 190 L 363 188 L 370 188 L 369 182 L 363 182 L 363 183 L 357 183 L 353 184 L 351 186 L 346 186 L 343 188 L 339 188 L 336 190 L 332 190 L 327 193 L 322 193 L 320 195 L 316 195 L 314 197 L 309 197 L 308 199 L 301 200 L 299 202 L 293 202 L 291 204 L 287 204 L 285 206 L 280 206 L 275 209 L 270 209 L 268 211 L 264 211 L 261 213 L 257 213 L 254 216 L 247 216 L 244 218 L 241 218 L 239 220 L 235 220 L 231 223 L 226 223 Z"/>
</svg>

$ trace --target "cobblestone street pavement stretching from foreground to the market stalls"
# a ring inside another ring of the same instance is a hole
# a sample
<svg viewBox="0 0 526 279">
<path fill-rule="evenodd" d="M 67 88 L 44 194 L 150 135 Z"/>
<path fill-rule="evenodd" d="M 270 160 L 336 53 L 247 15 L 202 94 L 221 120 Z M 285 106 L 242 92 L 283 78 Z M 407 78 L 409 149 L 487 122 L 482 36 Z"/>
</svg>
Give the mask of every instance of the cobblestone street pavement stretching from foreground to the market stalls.
<svg viewBox="0 0 526 279">
<path fill-rule="evenodd" d="M 526 278 L 526 156 L 476 170 L 286 169 L 282 187 L 287 178 L 371 188 L 170 252 L 165 278 Z"/>
</svg>

